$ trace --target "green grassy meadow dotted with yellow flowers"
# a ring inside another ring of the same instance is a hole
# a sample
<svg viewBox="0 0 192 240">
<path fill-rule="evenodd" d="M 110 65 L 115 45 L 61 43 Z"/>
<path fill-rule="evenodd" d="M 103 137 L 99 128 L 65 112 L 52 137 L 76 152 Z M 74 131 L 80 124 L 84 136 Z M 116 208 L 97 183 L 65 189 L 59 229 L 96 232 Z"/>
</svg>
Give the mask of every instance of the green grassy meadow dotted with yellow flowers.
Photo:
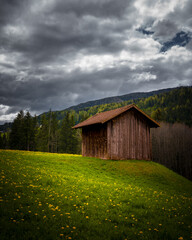
<svg viewBox="0 0 192 240">
<path fill-rule="evenodd" d="M 154 162 L 0 150 L 0 238 L 192 239 L 192 182 Z"/>
</svg>

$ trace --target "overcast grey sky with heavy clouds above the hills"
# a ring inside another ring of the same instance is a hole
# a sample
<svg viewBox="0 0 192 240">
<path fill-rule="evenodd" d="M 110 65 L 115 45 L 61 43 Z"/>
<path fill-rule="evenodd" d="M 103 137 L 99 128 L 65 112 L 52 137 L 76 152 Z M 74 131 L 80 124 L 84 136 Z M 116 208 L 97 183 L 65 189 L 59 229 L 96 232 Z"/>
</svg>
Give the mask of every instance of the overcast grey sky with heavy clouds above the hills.
<svg viewBox="0 0 192 240">
<path fill-rule="evenodd" d="M 1 0 L 0 124 L 192 85 L 191 0 Z"/>
</svg>

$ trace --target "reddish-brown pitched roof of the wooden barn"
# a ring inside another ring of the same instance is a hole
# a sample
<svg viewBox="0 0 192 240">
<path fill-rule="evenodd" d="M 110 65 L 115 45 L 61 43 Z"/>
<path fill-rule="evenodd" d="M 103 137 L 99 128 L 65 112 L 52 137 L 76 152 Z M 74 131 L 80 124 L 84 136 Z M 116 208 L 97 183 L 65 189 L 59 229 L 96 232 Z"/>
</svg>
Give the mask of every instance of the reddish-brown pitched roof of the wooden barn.
<svg viewBox="0 0 192 240">
<path fill-rule="evenodd" d="M 85 121 L 75 125 L 73 128 L 81 128 L 85 126 L 90 126 L 93 124 L 103 124 L 108 122 L 109 120 L 117 117 L 118 115 L 130 110 L 130 109 L 136 109 L 140 113 L 143 114 L 144 117 L 147 118 L 147 120 L 150 121 L 152 127 L 159 127 L 159 123 L 156 122 L 154 119 L 152 119 L 150 116 L 148 116 L 146 113 L 144 113 L 141 109 L 139 109 L 135 104 L 127 105 L 121 108 L 117 108 L 114 110 L 102 112 L 102 113 L 97 113 L 94 116 L 86 119 Z"/>
</svg>

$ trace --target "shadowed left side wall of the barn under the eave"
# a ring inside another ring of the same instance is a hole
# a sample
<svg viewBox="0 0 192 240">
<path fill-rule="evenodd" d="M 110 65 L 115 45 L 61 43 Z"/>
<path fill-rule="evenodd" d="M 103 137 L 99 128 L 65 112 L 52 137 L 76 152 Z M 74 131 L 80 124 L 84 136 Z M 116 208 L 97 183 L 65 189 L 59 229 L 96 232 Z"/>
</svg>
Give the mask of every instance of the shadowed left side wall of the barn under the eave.
<svg viewBox="0 0 192 240">
<path fill-rule="evenodd" d="M 107 158 L 107 125 L 98 124 L 82 128 L 82 155 Z"/>
</svg>

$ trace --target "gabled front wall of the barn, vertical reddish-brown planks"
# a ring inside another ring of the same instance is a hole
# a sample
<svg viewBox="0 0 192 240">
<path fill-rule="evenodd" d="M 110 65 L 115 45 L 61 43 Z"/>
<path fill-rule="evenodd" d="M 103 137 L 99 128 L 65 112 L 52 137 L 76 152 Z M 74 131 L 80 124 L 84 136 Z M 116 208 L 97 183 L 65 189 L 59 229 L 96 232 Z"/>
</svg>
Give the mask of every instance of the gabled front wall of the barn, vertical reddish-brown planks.
<svg viewBox="0 0 192 240">
<path fill-rule="evenodd" d="M 137 111 L 108 122 L 107 142 L 109 159 L 151 159 L 150 127 Z"/>
</svg>

